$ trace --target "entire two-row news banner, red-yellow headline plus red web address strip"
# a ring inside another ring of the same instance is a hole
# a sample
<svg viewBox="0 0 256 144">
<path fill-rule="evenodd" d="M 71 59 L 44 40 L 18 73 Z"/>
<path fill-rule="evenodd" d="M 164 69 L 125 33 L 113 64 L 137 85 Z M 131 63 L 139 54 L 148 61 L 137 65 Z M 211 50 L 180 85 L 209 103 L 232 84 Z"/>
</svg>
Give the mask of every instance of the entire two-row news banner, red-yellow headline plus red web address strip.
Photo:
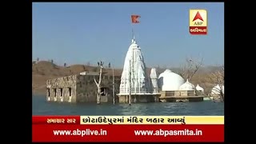
<svg viewBox="0 0 256 144">
<path fill-rule="evenodd" d="M 224 116 L 33 116 L 33 142 L 223 142 Z"/>
</svg>

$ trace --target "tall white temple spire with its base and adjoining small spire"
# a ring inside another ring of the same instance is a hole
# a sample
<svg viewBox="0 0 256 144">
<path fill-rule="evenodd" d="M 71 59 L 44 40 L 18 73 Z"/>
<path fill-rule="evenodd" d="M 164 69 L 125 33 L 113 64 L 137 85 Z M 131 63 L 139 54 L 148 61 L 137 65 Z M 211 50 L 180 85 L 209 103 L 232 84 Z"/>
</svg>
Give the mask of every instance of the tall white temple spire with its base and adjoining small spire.
<svg viewBox="0 0 256 144">
<path fill-rule="evenodd" d="M 119 102 L 155 102 L 158 97 L 158 86 L 155 84 L 154 77 L 152 74 L 151 81 L 146 74 L 142 50 L 135 38 L 132 38 L 122 70 Z"/>
</svg>

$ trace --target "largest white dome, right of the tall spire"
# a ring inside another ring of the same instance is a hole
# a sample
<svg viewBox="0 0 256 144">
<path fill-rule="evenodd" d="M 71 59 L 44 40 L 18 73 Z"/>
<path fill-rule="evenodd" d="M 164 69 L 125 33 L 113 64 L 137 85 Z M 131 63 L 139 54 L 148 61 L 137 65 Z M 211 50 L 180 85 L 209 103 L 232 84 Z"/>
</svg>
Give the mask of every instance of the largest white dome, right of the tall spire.
<svg viewBox="0 0 256 144">
<path fill-rule="evenodd" d="M 158 86 L 163 91 L 178 90 L 179 86 L 182 86 L 183 83 L 184 79 L 180 75 L 173 73 L 171 70 L 165 70 L 158 77 Z"/>
</svg>

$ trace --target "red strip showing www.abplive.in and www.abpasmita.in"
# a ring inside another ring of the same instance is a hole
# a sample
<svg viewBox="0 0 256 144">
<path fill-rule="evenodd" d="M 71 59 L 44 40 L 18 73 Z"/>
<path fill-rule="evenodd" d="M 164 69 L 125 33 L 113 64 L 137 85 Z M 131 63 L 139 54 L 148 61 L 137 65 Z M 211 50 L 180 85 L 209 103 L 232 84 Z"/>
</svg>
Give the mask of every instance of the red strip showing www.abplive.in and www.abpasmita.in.
<svg viewBox="0 0 256 144">
<path fill-rule="evenodd" d="M 44 120 L 46 120 L 47 118 L 45 118 Z M 63 117 L 63 118 L 66 118 L 66 117 Z M 72 118 L 78 118 L 78 117 L 72 117 Z M 40 122 L 42 119 L 40 119 Z M 35 125 L 32 125 L 32 141 L 33 142 L 224 142 L 224 125 L 35 124 Z"/>
</svg>

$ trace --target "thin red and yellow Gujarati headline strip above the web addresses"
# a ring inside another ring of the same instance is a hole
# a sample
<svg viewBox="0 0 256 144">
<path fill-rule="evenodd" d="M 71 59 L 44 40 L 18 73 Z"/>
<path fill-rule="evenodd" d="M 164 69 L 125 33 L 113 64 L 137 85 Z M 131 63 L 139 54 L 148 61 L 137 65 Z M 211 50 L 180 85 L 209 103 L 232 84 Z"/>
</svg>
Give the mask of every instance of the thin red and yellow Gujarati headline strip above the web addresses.
<svg viewBox="0 0 256 144">
<path fill-rule="evenodd" d="M 33 116 L 32 124 L 77 125 L 223 125 L 224 116 Z"/>
</svg>

